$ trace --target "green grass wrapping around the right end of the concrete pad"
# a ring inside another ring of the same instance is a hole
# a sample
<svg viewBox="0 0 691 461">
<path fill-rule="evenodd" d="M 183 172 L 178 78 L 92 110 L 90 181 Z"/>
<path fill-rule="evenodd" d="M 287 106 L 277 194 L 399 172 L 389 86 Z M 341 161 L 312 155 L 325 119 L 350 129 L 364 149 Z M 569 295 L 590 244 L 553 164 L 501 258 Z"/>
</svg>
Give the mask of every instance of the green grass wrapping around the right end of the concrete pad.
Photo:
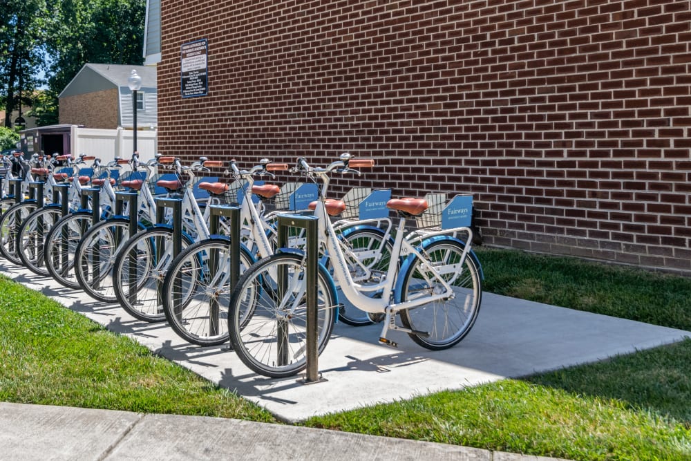
<svg viewBox="0 0 691 461">
<path fill-rule="evenodd" d="M 688 278 L 511 250 L 477 254 L 486 291 L 691 330 Z M 691 460 L 691 339 L 305 424 L 572 460 Z"/>
</svg>

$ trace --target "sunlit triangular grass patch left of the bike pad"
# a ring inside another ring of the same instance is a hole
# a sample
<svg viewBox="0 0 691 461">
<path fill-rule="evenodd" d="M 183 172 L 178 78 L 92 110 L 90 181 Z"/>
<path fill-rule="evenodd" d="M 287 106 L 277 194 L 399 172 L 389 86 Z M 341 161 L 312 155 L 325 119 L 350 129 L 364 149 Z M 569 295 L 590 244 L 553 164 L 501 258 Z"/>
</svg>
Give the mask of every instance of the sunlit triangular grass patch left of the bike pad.
<svg viewBox="0 0 691 461">
<path fill-rule="evenodd" d="M 275 422 L 135 341 L 0 277 L 0 400 Z"/>
</svg>

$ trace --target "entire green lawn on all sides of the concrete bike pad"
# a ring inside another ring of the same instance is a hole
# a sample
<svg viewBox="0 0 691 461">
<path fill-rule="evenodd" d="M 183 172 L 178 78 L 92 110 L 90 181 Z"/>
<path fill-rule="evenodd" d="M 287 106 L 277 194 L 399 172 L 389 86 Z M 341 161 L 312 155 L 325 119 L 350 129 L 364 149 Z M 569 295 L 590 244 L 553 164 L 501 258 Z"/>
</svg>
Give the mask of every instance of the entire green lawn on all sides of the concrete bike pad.
<svg viewBox="0 0 691 461">
<path fill-rule="evenodd" d="M 477 253 L 486 291 L 691 330 L 688 278 Z M 2 278 L 0 292 L 1 400 L 275 422 L 41 294 Z M 691 339 L 304 424 L 573 460 L 691 460 Z"/>
</svg>

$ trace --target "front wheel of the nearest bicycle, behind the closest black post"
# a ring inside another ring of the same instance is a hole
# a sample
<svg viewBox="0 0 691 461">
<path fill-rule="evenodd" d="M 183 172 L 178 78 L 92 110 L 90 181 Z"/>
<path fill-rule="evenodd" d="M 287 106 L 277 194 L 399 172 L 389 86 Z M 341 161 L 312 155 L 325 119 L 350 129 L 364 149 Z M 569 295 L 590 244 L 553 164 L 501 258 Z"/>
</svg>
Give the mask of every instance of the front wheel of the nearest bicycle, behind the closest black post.
<svg viewBox="0 0 691 461">
<path fill-rule="evenodd" d="M 307 299 L 305 266 L 297 254 L 263 258 L 240 277 L 231 295 L 228 330 L 234 350 L 260 375 L 292 376 L 307 366 Z M 319 267 L 317 348 L 326 347 L 337 308 L 328 272 Z"/>
</svg>

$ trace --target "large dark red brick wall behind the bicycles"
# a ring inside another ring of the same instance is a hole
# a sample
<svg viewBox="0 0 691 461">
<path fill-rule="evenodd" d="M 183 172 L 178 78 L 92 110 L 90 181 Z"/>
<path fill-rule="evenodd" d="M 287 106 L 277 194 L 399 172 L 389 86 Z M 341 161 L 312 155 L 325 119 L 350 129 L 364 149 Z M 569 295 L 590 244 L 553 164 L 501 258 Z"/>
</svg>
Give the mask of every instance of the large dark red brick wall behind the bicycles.
<svg viewBox="0 0 691 461">
<path fill-rule="evenodd" d="M 689 272 L 690 39 L 685 0 L 164 0 L 159 147 L 350 151 L 350 184 L 475 194 L 488 244 Z"/>
</svg>

